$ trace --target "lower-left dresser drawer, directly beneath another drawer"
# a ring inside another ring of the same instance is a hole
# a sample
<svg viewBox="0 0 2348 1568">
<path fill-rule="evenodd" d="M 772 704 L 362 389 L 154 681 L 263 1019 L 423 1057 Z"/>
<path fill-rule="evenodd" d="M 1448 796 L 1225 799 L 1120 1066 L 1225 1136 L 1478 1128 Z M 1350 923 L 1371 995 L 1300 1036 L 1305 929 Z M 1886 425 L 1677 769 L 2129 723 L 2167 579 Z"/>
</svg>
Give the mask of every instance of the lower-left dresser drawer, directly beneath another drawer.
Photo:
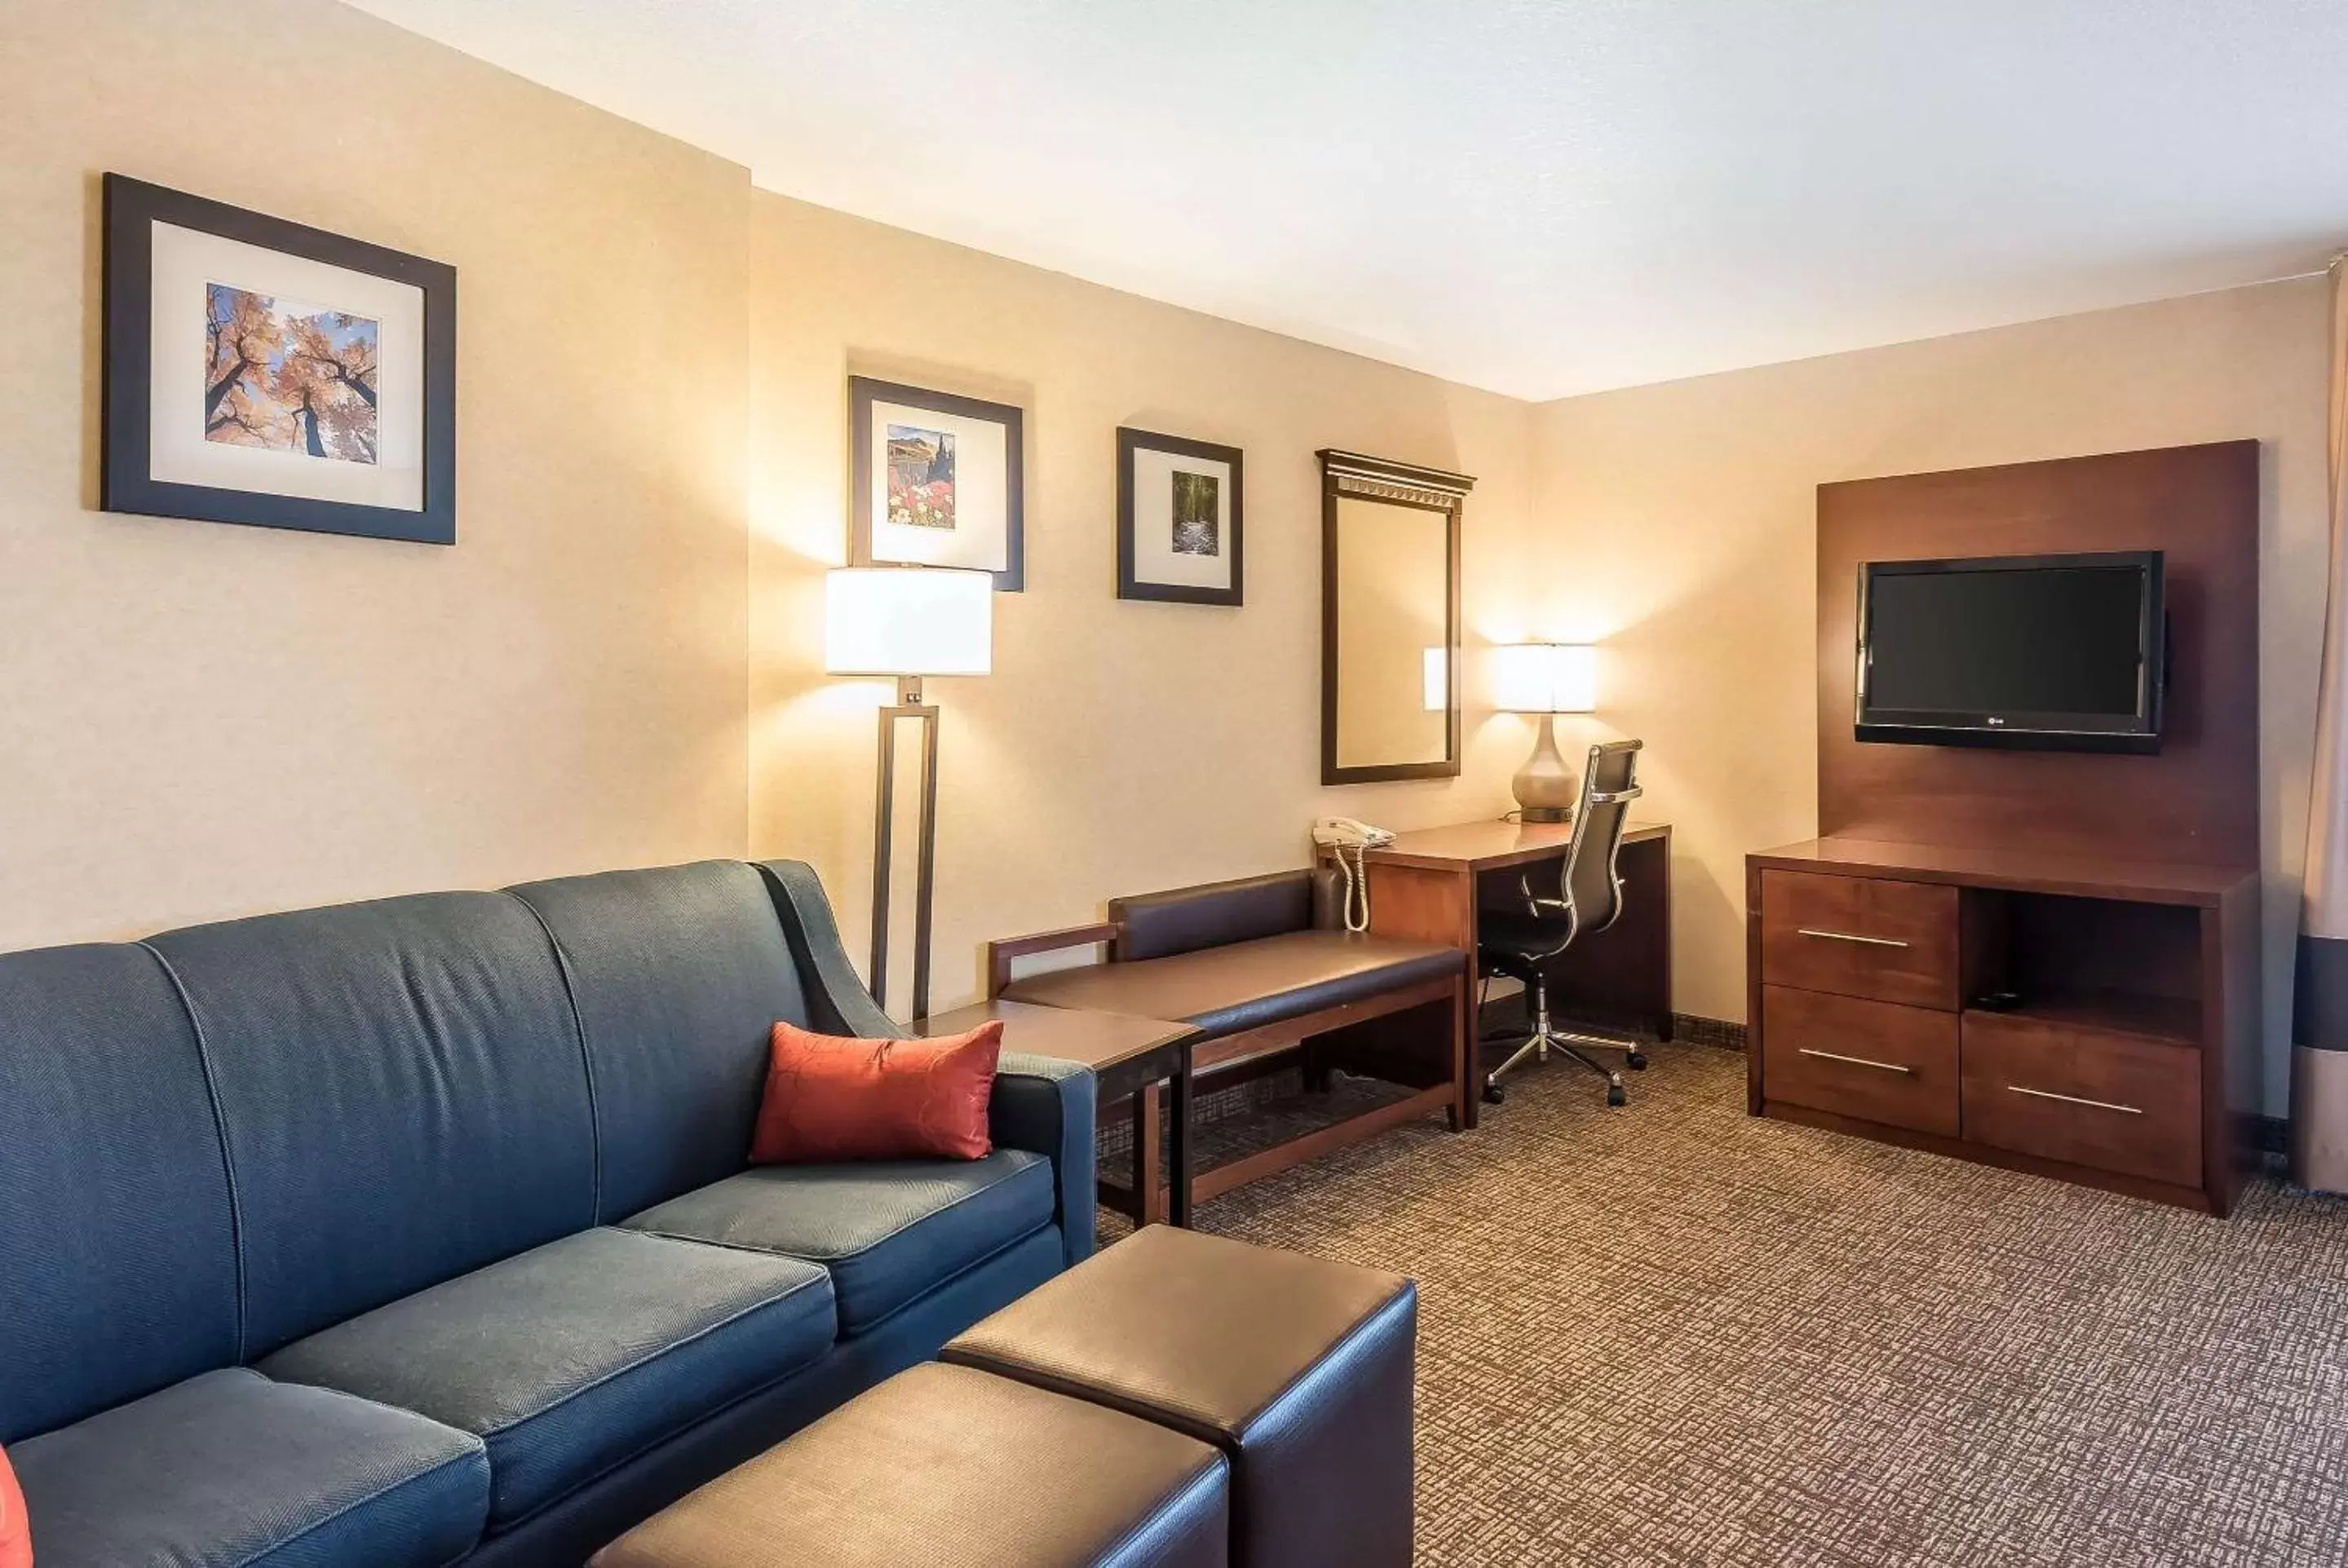
<svg viewBox="0 0 2348 1568">
<path fill-rule="evenodd" d="M 1954 1138 L 1956 1014 L 1761 986 L 1761 1096 Z"/>
</svg>

